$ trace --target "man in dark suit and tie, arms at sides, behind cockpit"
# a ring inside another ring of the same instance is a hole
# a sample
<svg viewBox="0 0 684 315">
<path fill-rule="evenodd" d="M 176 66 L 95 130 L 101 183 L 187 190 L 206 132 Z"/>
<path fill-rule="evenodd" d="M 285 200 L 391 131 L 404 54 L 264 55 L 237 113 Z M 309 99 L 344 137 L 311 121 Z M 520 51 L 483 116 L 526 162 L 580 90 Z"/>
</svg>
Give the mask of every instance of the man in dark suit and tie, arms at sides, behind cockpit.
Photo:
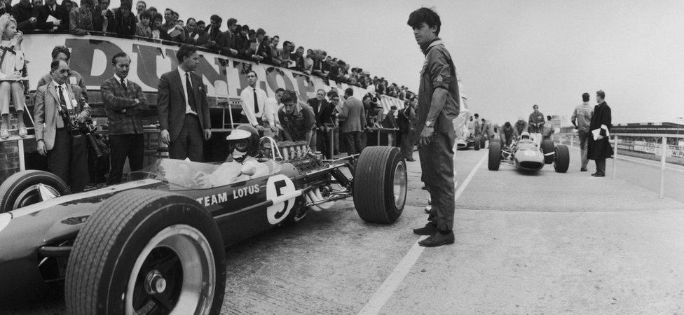
<svg viewBox="0 0 684 315">
<path fill-rule="evenodd" d="M 212 137 L 209 100 L 202 77 L 193 73 L 200 62 L 197 49 L 182 45 L 178 69 L 159 79 L 157 111 L 160 134 L 172 159 L 203 161 L 204 141 Z"/>
</svg>

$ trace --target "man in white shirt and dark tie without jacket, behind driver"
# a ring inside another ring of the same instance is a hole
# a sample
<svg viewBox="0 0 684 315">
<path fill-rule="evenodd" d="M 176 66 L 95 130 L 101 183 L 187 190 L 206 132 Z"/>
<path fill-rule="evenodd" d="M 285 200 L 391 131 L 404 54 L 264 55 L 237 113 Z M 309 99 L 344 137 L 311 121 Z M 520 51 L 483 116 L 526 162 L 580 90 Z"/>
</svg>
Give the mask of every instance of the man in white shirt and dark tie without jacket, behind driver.
<svg viewBox="0 0 684 315">
<path fill-rule="evenodd" d="M 242 99 L 242 123 L 249 123 L 252 127 L 257 128 L 259 133 L 264 132 L 264 126 L 270 125 L 268 115 L 264 115 L 264 108 L 266 106 L 266 91 L 257 87 L 257 73 L 254 71 L 247 72 L 248 87 L 240 92 L 240 99 Z"/>
</svg>

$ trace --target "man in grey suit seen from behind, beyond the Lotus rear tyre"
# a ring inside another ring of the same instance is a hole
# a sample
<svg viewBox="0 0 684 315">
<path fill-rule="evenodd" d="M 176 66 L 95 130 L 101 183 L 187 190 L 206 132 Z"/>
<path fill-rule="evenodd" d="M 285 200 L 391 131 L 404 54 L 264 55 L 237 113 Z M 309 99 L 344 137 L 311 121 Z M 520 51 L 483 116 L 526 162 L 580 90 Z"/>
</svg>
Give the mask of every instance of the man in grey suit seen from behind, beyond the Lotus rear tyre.
<svg viewBox="0 0 684 315">
<path fill-rule="evenodd" d="M 366 115 L 364 113 L 363 103 L 353 97 L 354 90 L 348 88 L 344 91 L 344 104 L 340 118 L 345 118 L 342 125 L 342 134 L 347 146 L 348 155 L 361 153 L 363 145 L 361 144 L 361 133 L 366 126 Z"/>
</svg>

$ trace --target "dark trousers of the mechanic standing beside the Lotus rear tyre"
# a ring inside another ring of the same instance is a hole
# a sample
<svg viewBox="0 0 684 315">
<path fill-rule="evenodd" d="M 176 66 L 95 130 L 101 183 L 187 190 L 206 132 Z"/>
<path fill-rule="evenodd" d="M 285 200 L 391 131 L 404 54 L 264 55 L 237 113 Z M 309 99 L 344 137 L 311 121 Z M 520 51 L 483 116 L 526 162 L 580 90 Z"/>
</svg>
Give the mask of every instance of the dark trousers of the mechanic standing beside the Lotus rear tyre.
<svg viewBox="0 0 684 315">
<path fill-rule="evenodd" d="M 453 212 L 456 207 L 453 200 L 453 141 L 456 133 L 435 134 L 427 146 L 418 147 L 420 169 L 423 171 L 423 183 L 430 192 L 432 209 L 427 221 L 437 225 L 442 231 L 453 229 Z"/>
</svg>

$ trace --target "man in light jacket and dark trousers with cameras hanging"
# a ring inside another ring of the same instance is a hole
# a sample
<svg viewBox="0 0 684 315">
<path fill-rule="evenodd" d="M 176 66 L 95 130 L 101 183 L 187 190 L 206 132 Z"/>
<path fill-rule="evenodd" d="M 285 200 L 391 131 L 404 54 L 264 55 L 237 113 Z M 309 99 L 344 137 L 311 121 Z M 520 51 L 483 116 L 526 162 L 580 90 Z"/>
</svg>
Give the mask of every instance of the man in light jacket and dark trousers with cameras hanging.
<svg viewBox="0 0 684 315">
<path fill-rule="evenodd" d="M 79 193 L 88 183 L 86 139 L 77 123 L 90 118 L 90 107 L 78 85 L 71 85 L 69 65 L 62 60 L 50 64 L 53 78 L 38 87 L 34 103 L 37 151 L 48 157 L 48 171 Z"/>
</svg>

